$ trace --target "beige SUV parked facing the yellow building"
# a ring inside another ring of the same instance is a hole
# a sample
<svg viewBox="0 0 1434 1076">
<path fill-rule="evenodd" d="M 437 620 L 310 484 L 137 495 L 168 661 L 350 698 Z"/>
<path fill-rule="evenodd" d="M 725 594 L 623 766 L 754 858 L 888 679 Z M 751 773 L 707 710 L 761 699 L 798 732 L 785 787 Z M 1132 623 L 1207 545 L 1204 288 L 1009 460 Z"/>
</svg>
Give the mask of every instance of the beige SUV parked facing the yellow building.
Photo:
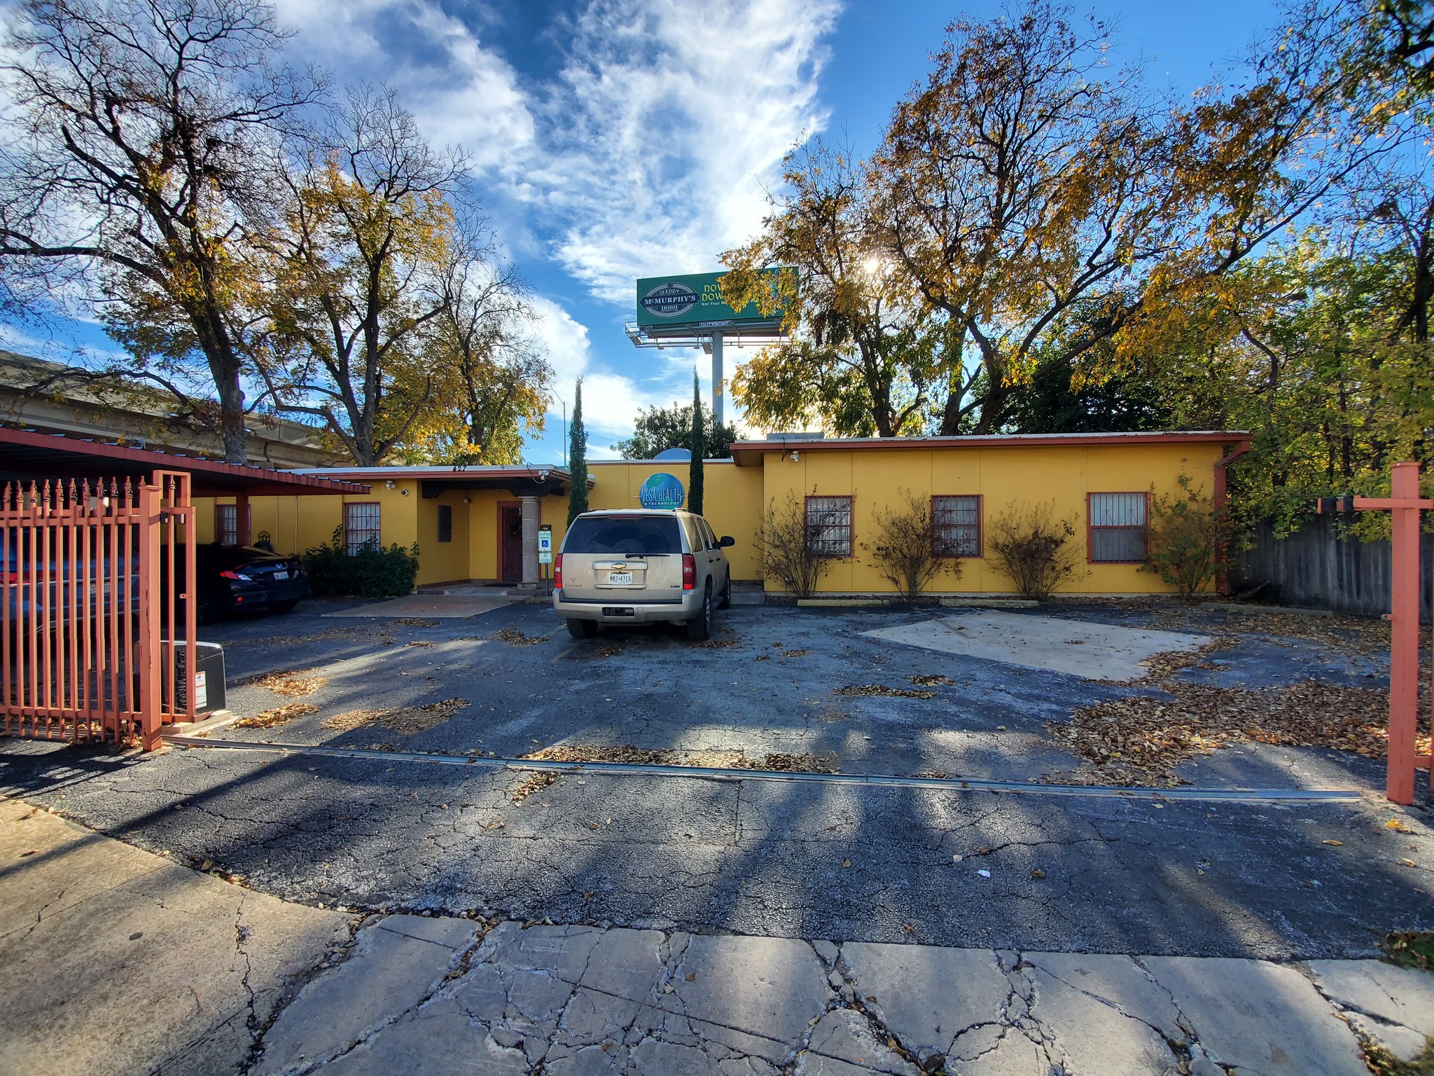
<svg viewBox="0 0 1434 1076">
<path fill-rule="evenodd" d="M 598 624 L 671 621 L 701 641 L 711 636 L 713 604 L 731 604 L 730 545 L 691 512 L 584 512 L 554 561 L 552 607 L 574 638 L 592 638 Z"/>
</svg>

